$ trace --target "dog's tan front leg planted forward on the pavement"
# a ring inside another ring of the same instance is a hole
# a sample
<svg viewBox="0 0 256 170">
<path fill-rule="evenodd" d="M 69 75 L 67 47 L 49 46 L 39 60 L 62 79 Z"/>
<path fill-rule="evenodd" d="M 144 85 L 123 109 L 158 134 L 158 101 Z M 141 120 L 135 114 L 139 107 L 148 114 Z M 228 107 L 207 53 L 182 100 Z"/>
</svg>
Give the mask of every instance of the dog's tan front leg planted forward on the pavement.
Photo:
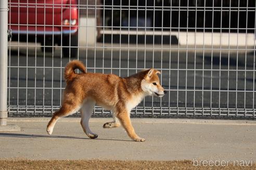
<svg viewBox="0 0 256 170">
<path fill-rule="evenodd" d="M 145 141 L 144 138 L 139 137 L 132 126 L 132 122 L 130 119 L 130 114 L 127 111 L 121 111 L 117 113 L 117 118 L 120 120 L 121 124 L 123 125 L 127 134 L 134 140 L 134 141 Z"/>
</svg>

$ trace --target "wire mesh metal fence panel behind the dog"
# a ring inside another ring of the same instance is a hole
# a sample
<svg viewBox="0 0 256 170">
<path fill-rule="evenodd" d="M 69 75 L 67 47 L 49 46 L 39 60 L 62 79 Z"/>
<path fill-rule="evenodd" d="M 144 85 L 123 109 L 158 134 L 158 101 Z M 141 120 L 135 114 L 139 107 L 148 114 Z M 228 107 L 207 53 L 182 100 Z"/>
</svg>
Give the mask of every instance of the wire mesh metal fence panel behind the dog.
<svg viewBox="0 0 256 170">
<path fill-rule="evenodd" d="M 9 0 L 8 8 L 9 116 L 51 116 L 63 69 L 78 59 L 87 72 L 161 71 L 167 95 L 146 97 L 132 116 L 256 118 L 253 0 Z M 110 114 L 95 107 L 94 116 Z"/>
</svg>

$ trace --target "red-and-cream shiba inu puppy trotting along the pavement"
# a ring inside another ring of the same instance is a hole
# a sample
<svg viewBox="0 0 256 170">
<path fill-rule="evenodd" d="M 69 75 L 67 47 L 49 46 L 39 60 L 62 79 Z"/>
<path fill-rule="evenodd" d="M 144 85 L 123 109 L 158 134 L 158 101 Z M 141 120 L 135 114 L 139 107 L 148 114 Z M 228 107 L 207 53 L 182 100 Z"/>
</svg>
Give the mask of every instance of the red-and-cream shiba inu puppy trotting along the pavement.
<svg viewBox="0 0 256 170">
<path fill-rule="evenodd" d="M 76 74 L 76 68 L 80 69 L 82 74 Z M 104 128 L 122 125 L 134 141 L 145 141 L 135 133 L 130 120 L 130 111 L 147 95 L 162 97 L 167 93 L 161 87 L 157 74 L 160 72 L 151 68 L 121 78 L 113 74 L 87 73 L 80 61 L 69 62 L 65 68 L 67 86 L 63 92 L 63 104 L 49 121 L 47 133 L 49 135 L 53 133 L 54 125 L 59 118 L 81 110 L 80 123 L 85 134 L 89 138 L 97 138 L 98 135 L 89 129 L 89 119 L 97 104 L 113 112 L 113 121 L 105 123 Z"/>
</svg>

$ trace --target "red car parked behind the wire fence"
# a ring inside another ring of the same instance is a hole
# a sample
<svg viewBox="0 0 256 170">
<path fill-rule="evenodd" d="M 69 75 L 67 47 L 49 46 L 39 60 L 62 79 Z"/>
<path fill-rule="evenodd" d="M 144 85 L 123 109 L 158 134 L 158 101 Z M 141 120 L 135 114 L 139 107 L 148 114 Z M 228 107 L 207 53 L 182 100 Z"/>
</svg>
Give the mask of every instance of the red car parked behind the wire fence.
<svg viewBox="0 0 256 170">
<path fill-rule="evenodd" d="M 9 0 L 8 5 L 12 40 L 36 41 L 48 52 L 52 52 L 53 44 L 58 44 L 63 56 L 76 57 L 79 21 L 76 0 Z"/>
</svg>

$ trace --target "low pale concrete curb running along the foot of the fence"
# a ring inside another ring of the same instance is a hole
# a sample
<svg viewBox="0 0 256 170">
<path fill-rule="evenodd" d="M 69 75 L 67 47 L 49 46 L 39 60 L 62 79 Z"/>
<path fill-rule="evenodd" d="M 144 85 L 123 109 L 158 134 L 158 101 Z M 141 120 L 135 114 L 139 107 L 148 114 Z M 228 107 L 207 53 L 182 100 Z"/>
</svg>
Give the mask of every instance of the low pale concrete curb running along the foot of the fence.
<svg viewBox="0 0 256 170">
<path fill-rule="evenodd" d="M 8 122 L 48 122 L 50 118 L 8 118 Z M 81 118 L 62 118 L 59 122 L 80 122 Z M 212 119 L 161 119 L 161 118 L 132 118 L 136 123 L 185 123 L 185 124 L 231 124 L 256 125 L 254 120 L 212 120 Z M 106 123 L 112 118 L 91 118 L 90 122 Z"/>
</svg>

